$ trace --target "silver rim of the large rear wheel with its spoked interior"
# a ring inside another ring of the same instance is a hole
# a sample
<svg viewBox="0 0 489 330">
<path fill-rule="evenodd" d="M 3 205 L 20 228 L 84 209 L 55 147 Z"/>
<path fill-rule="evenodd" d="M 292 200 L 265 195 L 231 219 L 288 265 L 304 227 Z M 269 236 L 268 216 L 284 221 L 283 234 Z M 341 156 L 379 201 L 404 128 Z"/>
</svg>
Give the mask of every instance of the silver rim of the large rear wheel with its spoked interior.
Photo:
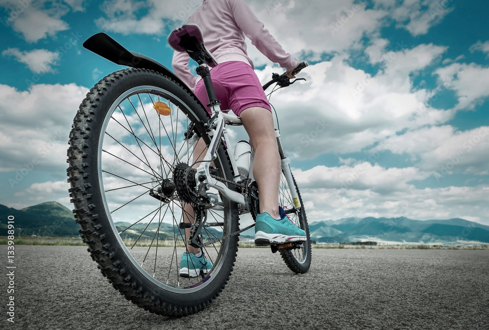
<svg viewBox="0 0 489 330">
<path fill-rule="evenodd" d="M 153 109 L 155 102 L 166 103 L 172 109 L 171 115 L 159 115 Z M 130 262 L 156 286 L 191 293 L 209 285 L 219 273 L 229 240 L 204 248 L 213 267 L 206 269 L 203 279 L 179 276 L 180 259 L 186 251 L 185 235 L 178 230 L 184 203 L 176 192 L 167 202 L 151 197 L 149 192 L 165 179 L 172 182 L 178 152 L 186 151 L 181 162 L 192 165 L 193 148 L 184 143 L 184 132 L 191 121 L 182 109 L 194 116 L 177 96 L 162 88 L 139 86 L 127 90 L 113 102 L 104 119 L 97 164 L 106 216 Z M 216 166 L 222 165 L 219 161 L 215 160 Z M 222 202 L 229 207 L 229 201 Z M 209 210 L 207 221 L 222 225 L 205 228 L 202 233 L 210 239 L 229 234 L 229 213 Z"/>
</svg>

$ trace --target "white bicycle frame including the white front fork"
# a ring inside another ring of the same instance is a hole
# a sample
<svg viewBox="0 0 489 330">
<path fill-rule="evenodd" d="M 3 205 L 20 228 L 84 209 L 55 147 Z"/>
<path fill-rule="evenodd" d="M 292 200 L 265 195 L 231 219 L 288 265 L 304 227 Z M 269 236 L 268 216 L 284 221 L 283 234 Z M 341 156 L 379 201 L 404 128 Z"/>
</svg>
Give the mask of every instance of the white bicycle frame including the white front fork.
<svg viewBox="0 0 489 330">
<path fill-rule="evenodd" d="M 225 125 L 233 125 L 233 126 L 240 126 L 243 125 L 241 122 L 241 118 L 230 113 L 224 113 L 221 111 L 221 107 L 219 105 L 214 105 L 211 107 L 212 110 L 212 115 L 214 116 L 217 113 L 217 116 L 215 120 L 211 123 L 211 130 L 208 132 L 209 136 L 212 136 L 212 140 L 209 144 L 209 147 L 207 149 L 207 152 L 200 164 L 200 166 L 197 169 L 197 173 L 195 175 L 195 180 L 199 187 L 204 185 L 205 190 L 208 190 L 210 188 L 215 188 L 219 192 L 222 193 L 226 198 L 233 200 L 240 204 L 240 209 L 245 210 L 249 212 L 249 205 L 247 201 L 244 199 L 244 196 L 238 192 L 235 192 L 231 189 L 229 189 L 223 182 L 216 180 L 213 178 L 210 173 L 209 173 L 209 166 L 210 163 L 216 159 L 217 157 L 217 149 L 219 148 L 219 144 L 222 142 L 222 139 L 224 140 L 224 143 L 226 146 L 230 146 L 228 141 L 228 135 L 226 132 Z M 275 136 L 277 138 L 277 144 L 278 144 L 278 149 L 279 149 L 279 154 L 281 158 L 281 165 L 282 165 L 282 170 L 284 172 L 284 175 L 287 180 L 287 184 L 289 185 L 289 191 L 292 195 L 292 199 L 294 202 L 294 207 L 298 209 L 300 207 L 299 204 L 299 196 L 297 195 L 297 191 L 295 189 L 294 181 L 292 179 L 292 174 L 290 171 L 290 166 L 289 166 L 289 158 L 285 156 L 284 150 L 282 148 L 282 143 L 280 140 L 280 132 L 276 129 L 275 130 Z M 190 150 L 191 147 L 195 144 L 195 142 L 198 140 L 198 136 L 196 133 L 188 140 L 185 141 L 184 143 L 188 143 L 188 148 L 181 148 L 180 153 L 178 153 L 178 160 L 181 161 L 186 155 L 187 151 Z M 186 149 L 186 150 L 185 150 Z M 234 150 L 234 148 L 233 148 Z M 234 159 L 234 154 L 229 155 L 229 159 L 231 161 L 231 170 L 232 170 L 232 175 L 233 175 L 233 180 L 235 182 L 238 182 L 241 180 L 241 175 L 238 172 L 238 167 L 236 166 L 236 161 Z M 250 161 L 250 171 L 248 177 L 253 178 L 252 175 L 252 164 L 253 164 L 253 153 L 251 153 L 251 161 Z M 168 173 L 168 172 L 167 172 Z M 205 177 L 202 181 L 199 180 L 200 177 Z M 200 191 L 200 189 L 199 189 Z"/>
</svg>

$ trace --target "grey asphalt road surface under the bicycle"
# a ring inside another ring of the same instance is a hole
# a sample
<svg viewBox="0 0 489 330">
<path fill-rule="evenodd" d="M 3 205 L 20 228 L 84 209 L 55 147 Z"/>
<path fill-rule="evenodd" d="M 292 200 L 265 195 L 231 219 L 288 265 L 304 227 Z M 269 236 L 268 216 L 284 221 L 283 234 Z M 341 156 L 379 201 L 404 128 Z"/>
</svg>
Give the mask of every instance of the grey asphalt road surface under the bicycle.
<svg viewBox="0 0 489 330">
<path fill-rule="evenodd" d="M 3 276 L 0 329 L 489 329 L 487 250 L 313 249 L 312 258 L 295 275 L 278 254 L 242 248 L 209 308 L 168 318 L 119 295 L 83 246 L 18 245 L 15 323 Z"/>
</svg>

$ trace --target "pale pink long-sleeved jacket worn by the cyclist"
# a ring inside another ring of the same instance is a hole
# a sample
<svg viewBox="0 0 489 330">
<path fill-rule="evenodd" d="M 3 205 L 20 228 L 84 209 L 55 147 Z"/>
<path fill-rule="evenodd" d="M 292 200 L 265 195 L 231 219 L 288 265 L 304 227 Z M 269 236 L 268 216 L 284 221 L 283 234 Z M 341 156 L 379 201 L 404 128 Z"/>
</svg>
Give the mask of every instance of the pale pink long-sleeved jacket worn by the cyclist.
<svg viewBox="0 0 489 330">
<path fill-rule="evenodd" d="M 270 61 L 288 71 L 297 66 L 297 62 L 270 35 L 244 0 L 204 0 L 187 22 L 199 25 L 204 45 L 218 64 L 241 61 L 254 68 L 246 53 L 246 36 Z M 189 60 L 187 53 L 175 52 L 172 66 L 178 78 L 194 90 L 198 79 L 188 67 Z"/>
</svg>

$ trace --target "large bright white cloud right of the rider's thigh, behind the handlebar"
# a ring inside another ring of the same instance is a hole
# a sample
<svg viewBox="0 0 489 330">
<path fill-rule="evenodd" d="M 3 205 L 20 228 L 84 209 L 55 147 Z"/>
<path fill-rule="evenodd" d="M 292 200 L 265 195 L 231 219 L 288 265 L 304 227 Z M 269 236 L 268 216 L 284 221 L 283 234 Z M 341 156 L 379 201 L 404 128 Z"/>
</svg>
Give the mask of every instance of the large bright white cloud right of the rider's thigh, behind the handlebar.
<svg viewBox="0 0 489 330">
<path fill-rule="evenodd" d="M 396 132 L 450 120 L 453 111 L 428 107 L 420 113 L 420 105 L 430 94 L 425 89 L 413 91 L 409 78 L 444 51 L 444 47 L 431 44 L 404 49 L 373 77 L 352 68 L 346 57 L 339 55 L 331 62 L 304 69 L 301 77 L 307 82 L 296 83 L 271 98 L 287 152 L 301 158 L 359 152 Z M 257 71 L 262 83 L 272 72 L 276 69 L 270 66 Z"/>
</svg>

